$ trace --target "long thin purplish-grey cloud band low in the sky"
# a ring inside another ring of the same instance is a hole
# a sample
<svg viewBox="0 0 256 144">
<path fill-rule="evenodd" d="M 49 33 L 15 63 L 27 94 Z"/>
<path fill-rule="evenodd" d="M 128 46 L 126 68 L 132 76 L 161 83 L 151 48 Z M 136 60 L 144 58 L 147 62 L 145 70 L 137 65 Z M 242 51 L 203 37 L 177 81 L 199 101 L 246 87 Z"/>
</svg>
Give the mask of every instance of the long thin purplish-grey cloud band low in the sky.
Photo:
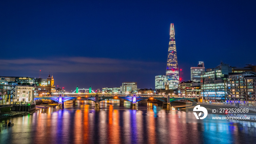
<svg viewBox="0 0 256 144">
<path fill-rule="evenodd" d="M 1 71 L 51 71 L 62 73 L 83 72 L 156 72 L 157 62 L 118 60 L 113 58 L 68 57 L 52 60 L 16 59 L 0 60 Z"/>
</svg>

